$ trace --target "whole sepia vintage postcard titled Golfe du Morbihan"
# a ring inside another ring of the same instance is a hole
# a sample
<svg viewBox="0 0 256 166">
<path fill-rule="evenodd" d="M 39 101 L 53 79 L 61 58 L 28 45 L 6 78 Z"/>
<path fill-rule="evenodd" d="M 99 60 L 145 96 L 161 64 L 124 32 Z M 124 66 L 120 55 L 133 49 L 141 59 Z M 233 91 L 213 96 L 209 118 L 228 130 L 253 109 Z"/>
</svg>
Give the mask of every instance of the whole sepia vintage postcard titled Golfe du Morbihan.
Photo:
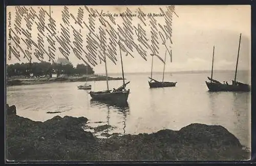
<svg viewBox="0 0 256 166">
<path fill-rule="evenodd" d="M 6 161 L 251 158 L 248 5 L 7 6 Z"/>
</svg>

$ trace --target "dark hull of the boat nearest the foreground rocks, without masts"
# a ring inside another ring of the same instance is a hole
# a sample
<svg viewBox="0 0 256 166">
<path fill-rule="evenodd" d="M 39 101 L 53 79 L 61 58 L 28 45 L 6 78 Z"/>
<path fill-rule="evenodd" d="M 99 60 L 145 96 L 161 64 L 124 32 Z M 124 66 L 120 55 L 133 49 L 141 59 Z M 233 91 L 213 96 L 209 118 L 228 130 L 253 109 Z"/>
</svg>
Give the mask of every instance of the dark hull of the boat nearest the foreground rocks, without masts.
<svg viewBox="0 0 256 166">
<path fill-rule="evenodd" d="M 129 91 L 124 92 L 90 92 L 90 96 L 94 100 L 108 101 L 112 103 L 125 103 L 127 102 Z"/>
</svg>

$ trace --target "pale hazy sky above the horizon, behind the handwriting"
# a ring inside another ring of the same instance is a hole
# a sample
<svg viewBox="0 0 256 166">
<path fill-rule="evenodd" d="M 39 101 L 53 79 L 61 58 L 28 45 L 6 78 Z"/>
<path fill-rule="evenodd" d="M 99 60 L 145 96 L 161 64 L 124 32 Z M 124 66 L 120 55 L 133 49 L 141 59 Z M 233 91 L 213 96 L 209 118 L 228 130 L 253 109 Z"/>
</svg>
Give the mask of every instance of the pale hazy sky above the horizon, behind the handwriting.
<svg viewBox="0 0 256 166">
<path fill-rule="evenodd" d="M 67 6 L 70 13 L 75 17 L 77 16 L 77 10 L 83 6 Z M 91 8 L 90 6 L 88 6 Z M 166 6 L 96 6 L 92 7 L 105 13 L 118 13 L 125 11 L 126 7 L 132 11 L 132 13 L 138 9 L 138 7 L 144 13 L 159 13 L 159 8 L 165 9 Z M 27 7 L 29 8 L 29 7 Z M 49 10 L 48 6 L 43 7 L 45 10 Z M 83 8 L 84 9 L 84 8 Z M 34 10 L 38 12 L 38 8 L 34 7 Z M 52 6 L 52 17 L 56 20 L 57 31 L 60 31 L 59 22 L 61 20 L 61 10 L 63 7 Z M 11 27 L 13 29 L 15 21 L 15 7 L 8 7 L 7 13 L 11 12 Z M 84 10 L 86 13 L 86 10 Z M 172 49 L 173 61 L 170 63 L 170 57 L 166 56 L 165 71 L 193 71 L 193 70 L 210 70 L 213 46 L 215 45 L 215 61 L 214 70 L 234 70 L 236 68 L 239 36 L 242 34 L 239 65 L 238 70 L 250 70 L 250 50 L 251 50 L 251 8 L 250 6 L 242 5 L 222 5 L 222 6 L 175 6 L 175 12 L 178 17 L 173 15 L 172 20 L 172 41 L 173 44 L 168 44 L 169 49 Z M 160 24 L 164 24 L 164 17 L 155 17 Z M 8 19 L 8 14 L 7 14 Z M 116 22 L 120 23 L 121 17 L 116 17 Z M 85 22 L 88 21 L 88 16 L 84 14 Z M 8 20 L 7 20 L 8 21 Z M 139 23 L 138 19 L 133 19 L 134 25 Z M 120 23 L 121 24 L 121 23 Z M 26 29 L 26 25 L 23 23 L 23 27 Z M 33 24 L 35 25 L 35 24 Z M 97 23 L 100 25 L 100 23 Z M 74 28 L 79 30 L 77 24 L 73 24 Z M 97 26 L 98 27 L 98 26 Z M 88 34 L 88 30 L 81 29 L 82 34 Z M 144 27 L 146 34 L 150 34 L 151 26 L 147 24 Z M 32 27 L 32 39 L 37 41 L 36 26 Z M 8 25 L 7 25 L 7 38 L 8 38 Z M 22 38 L 22 36 L 20 36 Z M 71 37 L 72 38 L 72 37 Z M 74 38 L 73 38 L 74 39 Z M 46 41 L 46 38 L 44 39 Z M 83 35 L 83 40 L 86 41 L 86 35 Z M 137 40 L 136 40 L 137 41 Z M 138 42 L 137 42 L 138 43 Z M 11 45 L 14 45 L 11 42 Z M 24 43 L 20 44 L 21 47 L 26 49 Z M 83 45 L 84 46 L 84 45 Z M 47 48 L 48 45 L 45 44 Z M 84 46 L 85 47 L 85 46 Z M 164 59 L 165 47 L 160 45 L 159 56 Z M 125 56 L 125 52 L 122 52 L 123 68 L 124 72 L 150 72 L 152 59 L 150 51 L 147 51 L 147 61 L 145 61 L 139 53 L 133 51 L 133 56 Z M 7 46 L 8 54 L 8 46 Z M 8 56 L 8 55 L 7 55 Z M 55 53 L 55 57 L 61 57 L 60 52 Z M 117 64 L 115 65 L 109 59 L 107 60 L 107 67 L 109 73 L 121 72 L 120 64 L 120 52 L 117 47 Z M 70 54 L 69 59 L 71 63 L 76 66 L 83 63 L 74 54 Z M 21 59 L 21 62 L 28 62 L 26 59 Z M 37 62 L 33 57 L 33 62 Z M 7 59 L 7 64 L 18 63 L 19 61 L 12 56 L 11 60 Z M 99 62 L 99 61 L 98 61 Z M 19 62 L 20 63 L 20 62 Z M 95 73 L 104 73 L 104 63 L 98 64 L 93 67 Z M 154 57 L 153 71 L 160 72 L 163 70 L 163 63 Z"/>
</svg>

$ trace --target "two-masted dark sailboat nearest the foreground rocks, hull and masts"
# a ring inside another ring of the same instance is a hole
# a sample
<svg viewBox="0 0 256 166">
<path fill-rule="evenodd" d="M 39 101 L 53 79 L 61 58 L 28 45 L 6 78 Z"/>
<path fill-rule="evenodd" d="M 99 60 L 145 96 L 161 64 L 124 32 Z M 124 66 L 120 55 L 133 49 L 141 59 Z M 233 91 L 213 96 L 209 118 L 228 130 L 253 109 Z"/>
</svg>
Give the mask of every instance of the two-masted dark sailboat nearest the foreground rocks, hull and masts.
<svg viewBox="0 0 256 166">
<path fill-rule="evenodd" d="M 120 48 L 120 44 L 119 44 Z M 105 59 L 105 72 L 106 72 L 106 91 L 98 91 L 98 92 L 90 92 L 90 96 L 92 99 L 95 100 L 101 100 L 101 101 L 108 101 L 112 103 L 122 103 L 122 102 L 127 102 L 130 89 L 126 90 L 126 85 L 130 83 L 124 81 L 124 74 L 123 74 L 123 62 L 122 62 L 122 54 L 121 54 L 121 48 L 120 48 L 120 58 L 121 58 L 121 66 L 122 66 L 122 80 L 123 80 L 123 85 L 117 89 L 113 89 L 112 91 L 109 90 L 109 81 L 108 81 L 108 70 L 106 68 L 106 56 L 104 54 L 104 59 Z"/>
</svg>

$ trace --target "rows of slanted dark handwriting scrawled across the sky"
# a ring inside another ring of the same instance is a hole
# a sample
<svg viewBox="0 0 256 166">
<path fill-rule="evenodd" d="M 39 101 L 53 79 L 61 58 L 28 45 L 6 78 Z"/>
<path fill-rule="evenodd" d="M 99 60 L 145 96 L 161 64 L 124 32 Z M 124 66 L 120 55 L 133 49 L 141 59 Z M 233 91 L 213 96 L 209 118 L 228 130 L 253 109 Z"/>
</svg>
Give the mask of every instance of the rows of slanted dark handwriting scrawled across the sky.
<svg viewBox="0 0 256 166">
<path fill-rule="evenodd" d="M 15 7 L 14 29 L 11 31 L 13 44 L 10 50 L 18 60 L 22 56 L 31 60 L 34 56 L 42 61 L 48 56 L 49 61 L 53 61 L 60 52 L 66 59 L 74 54 L 87 65 L 90 63 L 95 66 L 98 60 L 105 61 L 104 56 L 116 64 L 116 47 L 120 46 L 121 51 L 126 52 L 126 56 L 134 58 L 136 54 L 134 51 L 137 51 L 139 57 L 144 60 L 147 60 L 147 55 L 151 53 L 162 61 L 158 55 L 160 45 L 165 45 L 167 49 L 167 43 L 169 41 L 170 44 L 173 43 L 173 13 L 178 17 L 174 6 L 159 8 L 164 16 L 164 24 L 153 16 L 148 16 L 146 19 L 146 14 L 140 8 L 137 9 L 138 15 L 126 8 L 118 15 L 120 22 L 117 23 L 116 14 L 103 16 L 105 13 L 103 10 L 97 11 L 84 6 L 77 9 L 75 16 L 67 6 L 63 6 L 62 22 L 58 22 L 54 19 L 54 14 L 50 15 L 45 8 L 36 9 Z M 135 19 L 139 23 L 134 24 Z M 150 25 L 150 31 L 146 31 L 147 25 Z M 34 26 L 37 33 L 32 33 Z M 37 36 L 33 37 L 34 34 Z"/>
</svg>

